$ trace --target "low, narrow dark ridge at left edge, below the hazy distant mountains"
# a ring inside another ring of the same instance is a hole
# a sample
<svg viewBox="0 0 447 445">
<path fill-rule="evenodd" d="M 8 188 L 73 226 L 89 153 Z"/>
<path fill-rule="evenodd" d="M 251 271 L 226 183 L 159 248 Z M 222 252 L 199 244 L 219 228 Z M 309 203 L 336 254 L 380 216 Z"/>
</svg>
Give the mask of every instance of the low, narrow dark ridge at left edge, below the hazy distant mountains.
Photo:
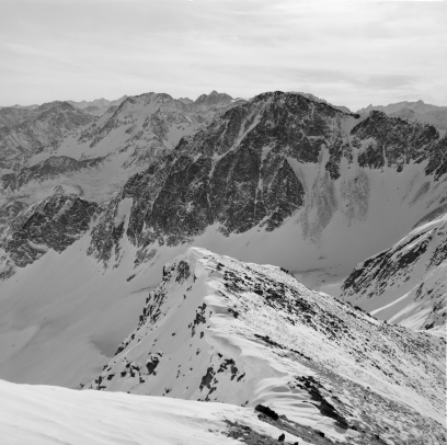
<svg viewBox="0 0 447 445">
<path fill-rule="evenodd" d="M 31 181 L 55 179 L 61 174 L 69 174 L 82 169 L 96 167 L 102 161 L 103 158 L 78 161 L 68 156 L 51 156 L 33 167 L 25 167 L 19 172 L 3 174 L 0 176 L 0 184 L 3 190 L 14 191 Z"/>
</svg>

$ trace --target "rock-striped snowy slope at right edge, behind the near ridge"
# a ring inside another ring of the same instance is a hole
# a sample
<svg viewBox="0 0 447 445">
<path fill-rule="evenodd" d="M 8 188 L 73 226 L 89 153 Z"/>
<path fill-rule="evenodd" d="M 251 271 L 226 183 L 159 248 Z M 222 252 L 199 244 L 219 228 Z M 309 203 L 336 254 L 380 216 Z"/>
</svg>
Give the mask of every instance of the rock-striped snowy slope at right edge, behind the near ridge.
<svg viewBox="0 0 447 445">
<path fill-rule="evenodd" d="M 389 322 L 446 335 L 447 214 L 360 263 L 342 298 Z"/>
</svg>

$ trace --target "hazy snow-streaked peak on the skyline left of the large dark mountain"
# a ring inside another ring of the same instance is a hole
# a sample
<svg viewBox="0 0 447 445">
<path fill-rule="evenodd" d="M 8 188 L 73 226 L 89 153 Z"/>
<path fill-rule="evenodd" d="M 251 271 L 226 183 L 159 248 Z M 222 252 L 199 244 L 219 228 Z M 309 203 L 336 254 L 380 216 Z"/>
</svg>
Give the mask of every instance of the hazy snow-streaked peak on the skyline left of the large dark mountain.
<svg viewBox="0 0 447 445">
<path fill-rule="evenodd" d="M 210 103 L 204 94 L 197 104 L 184 104 L 164 93 L 127 98 L 79 135 L 66 140 L 59 153 L 84 159 L 119 151 L 127 152 L 128 164 L 142 161 L 154 150 L 175 147 L 183 136 L 210 122 L 218 109 L 231 104 L 227 94 L 211 93 L 209 96 Z"/>
</svg>

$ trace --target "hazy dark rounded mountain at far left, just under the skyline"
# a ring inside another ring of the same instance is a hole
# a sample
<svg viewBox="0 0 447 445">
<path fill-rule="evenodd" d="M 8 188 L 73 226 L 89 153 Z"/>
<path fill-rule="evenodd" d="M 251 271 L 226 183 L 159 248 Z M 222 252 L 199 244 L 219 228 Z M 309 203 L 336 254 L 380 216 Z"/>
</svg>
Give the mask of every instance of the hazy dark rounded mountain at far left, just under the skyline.
<svg viewBox="0 0 447 445">
<path fill-rule="evenodd" d="M 67 102 L 41 105 L 23 117 L 0 128 L 0 168 L 20 170 L 32 156 L 56 149 L 69 132 L 96 118 Z"/>
</svg>

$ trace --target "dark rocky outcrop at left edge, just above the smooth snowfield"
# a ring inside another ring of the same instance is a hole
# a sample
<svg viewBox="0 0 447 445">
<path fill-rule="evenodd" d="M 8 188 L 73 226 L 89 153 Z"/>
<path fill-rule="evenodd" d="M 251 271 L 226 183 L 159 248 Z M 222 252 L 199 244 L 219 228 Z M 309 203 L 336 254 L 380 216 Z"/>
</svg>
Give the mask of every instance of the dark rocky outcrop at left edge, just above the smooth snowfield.
<svg viewBox="0 0 447 445">
<path fill-rule="evenodd" d="M 24 267 L 48 249 L 62 252 L 88 229 L 100 207 L 76 195 L 54 195 L 22 210 L 0 237 L 0 278 Z"/>
</svg>

